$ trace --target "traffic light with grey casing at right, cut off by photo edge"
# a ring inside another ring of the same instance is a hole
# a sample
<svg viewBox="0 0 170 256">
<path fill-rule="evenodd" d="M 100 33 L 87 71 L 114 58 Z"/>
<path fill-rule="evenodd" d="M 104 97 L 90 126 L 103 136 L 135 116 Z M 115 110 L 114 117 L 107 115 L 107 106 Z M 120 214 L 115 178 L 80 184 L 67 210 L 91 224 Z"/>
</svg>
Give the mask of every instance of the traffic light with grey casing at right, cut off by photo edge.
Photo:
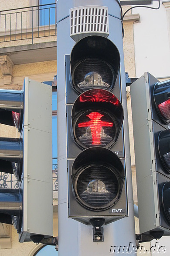
<svg viewBox="0 0 170 256">
<path fill-rule="evenodd" d="M 170 80 L 145 73 L 130 87 L 140 234 L 170 235 Z"/>
</svg>

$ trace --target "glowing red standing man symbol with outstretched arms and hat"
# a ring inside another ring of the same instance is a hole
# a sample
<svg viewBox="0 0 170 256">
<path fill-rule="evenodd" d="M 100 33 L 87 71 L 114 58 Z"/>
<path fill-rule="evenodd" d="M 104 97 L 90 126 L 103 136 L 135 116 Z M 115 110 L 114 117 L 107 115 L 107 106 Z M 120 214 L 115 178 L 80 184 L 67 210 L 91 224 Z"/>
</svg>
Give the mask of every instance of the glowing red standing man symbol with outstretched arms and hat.
<svg viewBox="0 0 170 256">
<path fill-rule="evenodd" d="M 90 127 L 92 133 L 92 145 L 99 145 L 101 144 L 102 127 L 112 127 L 113 123 L 102 121 L 101 118 L 104 115 L 99 112 L 91 112 L 87 116 L 90 118 L 90 121 L 79 123 L 78 127 Z"/>
</svg>

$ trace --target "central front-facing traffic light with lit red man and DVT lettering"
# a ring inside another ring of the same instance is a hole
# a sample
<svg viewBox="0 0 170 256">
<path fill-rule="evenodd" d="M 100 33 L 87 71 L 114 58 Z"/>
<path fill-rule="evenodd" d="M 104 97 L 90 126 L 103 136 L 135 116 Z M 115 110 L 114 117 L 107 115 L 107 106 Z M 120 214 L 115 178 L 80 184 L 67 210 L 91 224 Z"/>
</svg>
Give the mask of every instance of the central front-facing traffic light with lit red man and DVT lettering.
<svg viewBox="0 0 170 256">
<path fill-rule="evenodd" d="M 65 63 L 68 217 L 107 224 L 128 216 L 119 51 L 87 36 Z"/>
</svg>

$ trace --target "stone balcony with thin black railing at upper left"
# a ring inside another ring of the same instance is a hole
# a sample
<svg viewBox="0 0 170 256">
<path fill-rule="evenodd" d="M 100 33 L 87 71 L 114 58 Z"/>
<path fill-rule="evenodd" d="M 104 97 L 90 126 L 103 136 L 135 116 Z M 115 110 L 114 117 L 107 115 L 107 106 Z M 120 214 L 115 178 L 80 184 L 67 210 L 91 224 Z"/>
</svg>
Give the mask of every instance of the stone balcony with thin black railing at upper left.
<svg viewBox="0 0 170 256">
<path fill-rule="evenodd" d="M 56 4 L 0 11 L 0 55 L 15 64 L 56 60 Z"/>
</svg>

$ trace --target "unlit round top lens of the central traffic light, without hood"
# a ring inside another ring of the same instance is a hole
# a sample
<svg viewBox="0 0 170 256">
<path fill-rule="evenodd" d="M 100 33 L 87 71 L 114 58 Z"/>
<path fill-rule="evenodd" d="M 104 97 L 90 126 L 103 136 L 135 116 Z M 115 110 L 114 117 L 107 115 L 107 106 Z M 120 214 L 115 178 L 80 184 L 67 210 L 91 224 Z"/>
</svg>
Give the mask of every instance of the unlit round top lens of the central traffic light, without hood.
<svg viewBox="0 0 170 256">
<path fill-rule="evenodd" d="M 78 64 L 74 73 L 75 86 L 80 91 L 112 86 L 114 74 L 111 67 L 99 59 L 87 59 Z"/>
</svg>

